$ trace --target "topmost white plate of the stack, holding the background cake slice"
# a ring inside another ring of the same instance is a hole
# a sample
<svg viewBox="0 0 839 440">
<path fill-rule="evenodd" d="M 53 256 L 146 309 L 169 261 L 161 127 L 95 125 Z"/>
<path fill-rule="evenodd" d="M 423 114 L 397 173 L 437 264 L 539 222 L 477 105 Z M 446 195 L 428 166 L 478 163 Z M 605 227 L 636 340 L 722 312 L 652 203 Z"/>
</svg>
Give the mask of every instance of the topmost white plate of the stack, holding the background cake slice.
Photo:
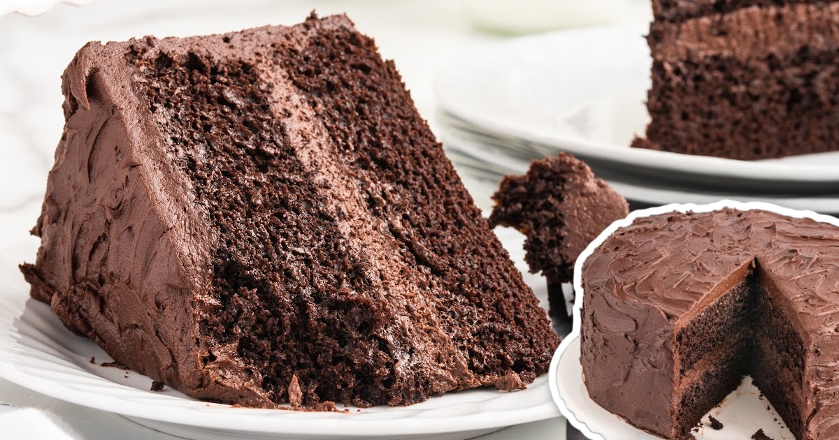
<svg viewBox="0 0 839 440">
<path fill-rule="evenodd" d="M 436 95 L 444 111 L 483 131 L 627 165 L 627 173 L 839 188 L 839 153 L 745 162 L 629 148 L 649 121 L 646 32 L 602 27 L 514 39 L 442 70 Z"/>
</svg>

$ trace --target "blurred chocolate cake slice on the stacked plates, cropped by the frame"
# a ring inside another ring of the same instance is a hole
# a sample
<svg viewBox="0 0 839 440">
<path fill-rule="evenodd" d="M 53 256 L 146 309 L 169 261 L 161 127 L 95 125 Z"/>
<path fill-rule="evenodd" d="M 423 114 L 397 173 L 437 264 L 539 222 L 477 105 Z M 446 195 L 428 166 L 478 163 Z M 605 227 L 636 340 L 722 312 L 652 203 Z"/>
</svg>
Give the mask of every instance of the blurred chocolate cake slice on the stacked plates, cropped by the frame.
<svg viewBox="0 0 839 440">
<path fill-rule="evenodd" d="M 735 159 L 839 149 L 839 2 L 654 0 L 633 147 Z"/>
</svg>

